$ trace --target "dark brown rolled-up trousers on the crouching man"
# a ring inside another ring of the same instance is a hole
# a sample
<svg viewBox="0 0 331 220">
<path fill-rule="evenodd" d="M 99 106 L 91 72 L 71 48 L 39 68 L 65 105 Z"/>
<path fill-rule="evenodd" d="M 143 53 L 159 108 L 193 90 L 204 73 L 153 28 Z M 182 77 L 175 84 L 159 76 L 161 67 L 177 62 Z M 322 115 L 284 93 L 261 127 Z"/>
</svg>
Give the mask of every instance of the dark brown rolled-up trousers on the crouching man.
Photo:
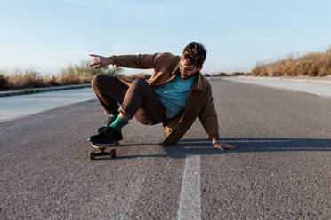
<svg viewBox="0 0 331 220">
<path fill-rule="evenodd" d="M 119 112 L 129 118 L 134 116 L 138 122 L 149 125 L 165 121 L 165 107 L 146 80 L 135 79 L 128 87 L 117 77 L 95 75 L 91 84 L 105 114 Z"/>
</svg>

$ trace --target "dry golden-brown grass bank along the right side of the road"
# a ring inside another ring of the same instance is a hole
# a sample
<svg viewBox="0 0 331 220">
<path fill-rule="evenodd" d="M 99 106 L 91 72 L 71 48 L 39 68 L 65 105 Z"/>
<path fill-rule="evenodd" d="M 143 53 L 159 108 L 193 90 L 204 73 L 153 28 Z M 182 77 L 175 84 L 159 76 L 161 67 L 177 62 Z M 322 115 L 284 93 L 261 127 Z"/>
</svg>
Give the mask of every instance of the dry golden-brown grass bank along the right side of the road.
<svg viewBox="0 0 331 220">
<path fill-rule="evenodd" d="M 256 65 L 251 75 L 256 76 L 326 76 L 331 75 L 331 48 L 325 52 L 309 53 L 294 59 L 280 59 L 270 64 Z"/>
</svg>

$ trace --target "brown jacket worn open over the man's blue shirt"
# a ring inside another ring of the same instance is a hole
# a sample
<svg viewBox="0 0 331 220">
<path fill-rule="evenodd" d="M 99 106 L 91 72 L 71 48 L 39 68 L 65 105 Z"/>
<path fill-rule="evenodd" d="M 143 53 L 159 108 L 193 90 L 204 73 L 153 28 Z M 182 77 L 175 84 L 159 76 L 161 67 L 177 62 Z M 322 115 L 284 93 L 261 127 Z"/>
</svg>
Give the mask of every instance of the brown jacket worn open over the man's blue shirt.
<svg viewBox="0 0 331 220">
<path fill-rule="evenodd" d="M 155 53 L 140 55 L 112 56 L 114 66 L 148 69 L 154 68 L 148 83 L 151 86 L 161 85 L 174 79 L 180 66 L 180 57 L 171 53 Z M 130 85 L 130 81 L 119 78 L 121 82 Z M 199 118 L 208 138 L 218 139 L 218 120 L 214 109 L 212 87 L 206 78 L 198 73 L 184 109 L 174 118 L 163 122 L 166 138 L 161 145 L 174 145 L 190 129 L 193 122 Z"/>
</svg>

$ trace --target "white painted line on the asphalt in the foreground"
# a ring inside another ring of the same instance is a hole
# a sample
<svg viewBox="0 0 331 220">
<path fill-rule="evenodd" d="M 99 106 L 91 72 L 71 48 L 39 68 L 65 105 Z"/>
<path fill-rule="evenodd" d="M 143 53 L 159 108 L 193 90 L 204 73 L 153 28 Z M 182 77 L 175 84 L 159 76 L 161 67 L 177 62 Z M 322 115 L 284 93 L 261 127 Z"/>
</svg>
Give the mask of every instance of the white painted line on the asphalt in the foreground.
<svg viewBox="0 0 331 220">
<path fill-rule="evenodd" d="M 186 155 L 177 219 L 201 219 L 200 155 Z"/>
</svg>

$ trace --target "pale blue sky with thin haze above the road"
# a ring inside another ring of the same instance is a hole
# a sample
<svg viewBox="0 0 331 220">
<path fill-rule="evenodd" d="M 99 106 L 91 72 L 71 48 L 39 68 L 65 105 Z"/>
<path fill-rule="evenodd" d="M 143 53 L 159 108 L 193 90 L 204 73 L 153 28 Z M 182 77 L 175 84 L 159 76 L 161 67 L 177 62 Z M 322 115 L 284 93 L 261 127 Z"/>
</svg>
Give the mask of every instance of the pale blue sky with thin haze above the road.
<svg viewBox="0 0 331 220">
<path fill-rule="evenodd" d="M 0 69 L 55 74 L 89 54 L 169 51 L 205 44 L 202 72 L 331 45 L 331 1 L 0 0 Z M 126 73 L 138 72 L 125 70 Z M 151 72 L 151 71 L 140 71 Z"/>
</svg>

